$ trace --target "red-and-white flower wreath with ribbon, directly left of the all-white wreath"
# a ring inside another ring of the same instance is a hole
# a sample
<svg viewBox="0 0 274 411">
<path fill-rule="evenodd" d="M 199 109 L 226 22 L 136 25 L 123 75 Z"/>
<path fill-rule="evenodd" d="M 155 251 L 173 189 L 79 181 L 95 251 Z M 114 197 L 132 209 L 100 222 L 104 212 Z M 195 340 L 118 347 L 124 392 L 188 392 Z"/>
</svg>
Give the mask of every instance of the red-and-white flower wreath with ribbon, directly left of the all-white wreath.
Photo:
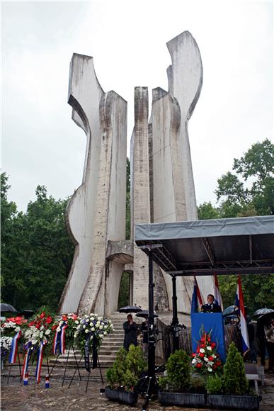
<svg viewBox="0 0 274 411">
<path fill-rule="evenodd" d="M 53 354 L 64 354 L 66 348 L 70 348 L 74 344 L 74 334 L 76 327 L 79 325 L 79 317 L 76 314 L 64 314 L 61 318 L 56 319 L 52 326 L 52 331 L 55 331 L 53 339 Z"/>
</svg>

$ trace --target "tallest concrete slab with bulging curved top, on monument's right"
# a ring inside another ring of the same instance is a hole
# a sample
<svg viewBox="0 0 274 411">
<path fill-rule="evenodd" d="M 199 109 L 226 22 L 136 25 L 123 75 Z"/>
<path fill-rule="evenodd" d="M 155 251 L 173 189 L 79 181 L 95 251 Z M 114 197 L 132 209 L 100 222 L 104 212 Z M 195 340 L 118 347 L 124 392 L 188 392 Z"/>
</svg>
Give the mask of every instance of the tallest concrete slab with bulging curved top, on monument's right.
<svg viewBox="0 0 274 411">
<path fill-rule="evenodd" d="M 188 138 L 188 121 L 200 97 L 202 89 L 202 60 L 199 47 L 188 32 L 166 43 L 171 55 L 172 65 L 167 69 L 169 79 L 169 94 L 175 97 L 181 110 L 181 127 L 179 155 L 183 171 L 183 188 L 185 190 L 186 220 L 198 220 L 198 212 L 195 197 L 193 169 L 190 155 L 190 143 Z M 178 221 L 178 220 L 177 220 Z M 193 282 L 185 278 L 185 288 L 192 288 Z M 213 293 L 213 277 L 198 277 L 198 284 L 203 297 Z M 189 310 L 188 310 L 189 312 Z"/>
</svg>

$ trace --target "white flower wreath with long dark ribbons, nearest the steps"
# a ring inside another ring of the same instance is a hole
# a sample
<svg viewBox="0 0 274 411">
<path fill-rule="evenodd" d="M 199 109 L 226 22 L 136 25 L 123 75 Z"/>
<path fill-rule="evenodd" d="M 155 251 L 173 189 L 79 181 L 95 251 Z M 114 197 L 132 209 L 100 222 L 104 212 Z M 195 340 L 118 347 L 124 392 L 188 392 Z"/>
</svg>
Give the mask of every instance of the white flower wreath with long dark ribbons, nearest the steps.
<svg viewBox="0 0 274 411">
<path fill-rule="evenodd" d="M 78 320 L 76 320 L 78 322 Z M 112 332 L 113 323 L 110 320 L 99 317 L 97 314 L 84 315 L 79 319 L 79 325 L 76 327 L 74 338 L 79 349 L 83 352 L 85 358 L 86 371 L 91 371 L 89 364 L 89 349 L 92 347 L 93 363 L 92 367 L 96 368 L 98 358 L 98 348 L 101 346 L 103 337 Z"/>
</svg>

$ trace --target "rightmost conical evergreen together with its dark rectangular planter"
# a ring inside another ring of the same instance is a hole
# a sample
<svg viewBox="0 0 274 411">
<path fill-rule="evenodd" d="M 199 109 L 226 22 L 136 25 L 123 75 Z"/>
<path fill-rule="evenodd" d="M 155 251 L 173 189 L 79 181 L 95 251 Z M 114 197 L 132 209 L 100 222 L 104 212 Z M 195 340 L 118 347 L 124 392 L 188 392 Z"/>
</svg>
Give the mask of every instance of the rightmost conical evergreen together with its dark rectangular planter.
<svg viewBox="0 0 274 411">
<path fill-rule="evenodd" d="M 208 405 L 218 410 L 258 410 L 259 397 L 251 395 L 244 371 L 244 359 L 234 342 L 229 345 L 223 376 L 208 378 L 206 388 Z"/>
</svg>

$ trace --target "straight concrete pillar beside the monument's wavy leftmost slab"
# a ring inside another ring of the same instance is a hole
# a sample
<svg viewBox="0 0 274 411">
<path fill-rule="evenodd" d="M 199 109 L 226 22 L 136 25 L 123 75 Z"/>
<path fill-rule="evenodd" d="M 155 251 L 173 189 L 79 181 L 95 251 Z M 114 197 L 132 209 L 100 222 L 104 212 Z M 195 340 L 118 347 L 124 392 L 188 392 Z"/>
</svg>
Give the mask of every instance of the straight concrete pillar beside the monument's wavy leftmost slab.
<svg viewBox="0 0 274 411">
<path fill-rule="evenodd" d="M 108 240 L 125 240 L 126 124 L 127 103 L 114 91 L 101 98 L 101 153 L 94 216 L 93 250 L 79 313 L 104 313 L 105 297 L 120 285 L 123 266 L 111 263 L 105 283 L 105 254 Z M 118 274 L 120 271 L 120 274 Z M 118 281 L 118 283 L 117 283 Z M 108 288 L 106 288 L 108 286 Z M 117 300 L 118 300 L 117 293 Z"/>
</svg>

